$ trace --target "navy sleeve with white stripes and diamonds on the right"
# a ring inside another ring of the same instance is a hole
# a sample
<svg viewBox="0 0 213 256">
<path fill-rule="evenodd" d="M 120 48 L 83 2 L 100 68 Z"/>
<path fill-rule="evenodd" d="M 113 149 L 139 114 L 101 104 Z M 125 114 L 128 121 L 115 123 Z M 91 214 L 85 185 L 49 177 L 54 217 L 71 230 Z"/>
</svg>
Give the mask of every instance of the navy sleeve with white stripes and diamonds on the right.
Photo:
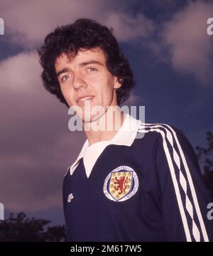
<svg viewBox="0 0 213 256">
<path fill-rule="evenodd" d="M 207 218 L 212 198 L 195 151 L 175 127 L 163 124 L 157 130 L 154 161 L 168 240 L 212 241 L 213 220 Z"/>
</svg>

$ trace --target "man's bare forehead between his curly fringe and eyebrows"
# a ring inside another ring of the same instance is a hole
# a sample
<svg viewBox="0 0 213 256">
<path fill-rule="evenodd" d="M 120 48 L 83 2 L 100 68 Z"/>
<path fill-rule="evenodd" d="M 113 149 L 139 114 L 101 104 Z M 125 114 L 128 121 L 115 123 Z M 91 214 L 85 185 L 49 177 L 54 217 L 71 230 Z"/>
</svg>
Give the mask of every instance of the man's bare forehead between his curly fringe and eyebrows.
<svg viewBox="0 0 213 256">
<path fill-rule="evenodd" d="M 75 55 L 75 57 L 68 58 L 67 54 L 62 53 L 55 60 L 55 68 L 60 68 L 61 66 L 69 63 L 80 64 L 87 60 L 98 60 L 104 65 L 106 64 L 106 57 L 104 55 L 104 51 L 101 48 L 97 47 L 89 50 L 81 49 L 77 52 L 77 55 Z"/>
</svg>

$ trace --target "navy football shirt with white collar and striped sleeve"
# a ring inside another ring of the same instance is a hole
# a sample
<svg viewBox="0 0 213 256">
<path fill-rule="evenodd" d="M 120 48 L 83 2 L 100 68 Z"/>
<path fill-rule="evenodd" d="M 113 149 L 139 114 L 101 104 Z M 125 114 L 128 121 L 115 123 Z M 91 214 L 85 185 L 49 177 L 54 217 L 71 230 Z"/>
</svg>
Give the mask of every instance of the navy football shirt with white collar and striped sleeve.
<svg viewBox="0 0 213 256">
<path fill-rule="evenodd" d="M 119 132 L 91 159 L 89 177 L 88 146 L 87 140 L 63 181 L 67 241 L 213 240 L 212 198 L 178 129 L 126 114 Z"/>
</svg>

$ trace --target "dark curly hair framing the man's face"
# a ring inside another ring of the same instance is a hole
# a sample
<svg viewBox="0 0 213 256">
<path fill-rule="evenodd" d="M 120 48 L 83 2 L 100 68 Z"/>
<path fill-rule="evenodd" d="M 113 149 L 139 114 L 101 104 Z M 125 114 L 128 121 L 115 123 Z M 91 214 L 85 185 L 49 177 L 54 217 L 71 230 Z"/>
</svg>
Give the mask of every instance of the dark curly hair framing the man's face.
<svg viewBox="0 0 213 256">
<path fill-rule="evenodd" d="M 45 37 L 43 46 L 38 49 L 40 65 L 43 68 L 41 78 L 45 89 L 67 105 L 55 72 L 56 58 L 62 53 L 67 54 L 68 58 L 70 55 L 75 57 L 81 48 L 89 50 L 100 47 L 106 57 L 107 69 L 121 83 L 121 87 L 116 89 L 118 104 L 121 105 L 127 100 L 130 90 L 135 85 L 133 72 L 129 61 L 121 53 L 112 31 L 112 28 L 109 30 L 107 26 L 102 26 L 92 19 L 79 18 L 75 23 L 57 27 L 55 31 L 49 33 Z"/>
</svg>

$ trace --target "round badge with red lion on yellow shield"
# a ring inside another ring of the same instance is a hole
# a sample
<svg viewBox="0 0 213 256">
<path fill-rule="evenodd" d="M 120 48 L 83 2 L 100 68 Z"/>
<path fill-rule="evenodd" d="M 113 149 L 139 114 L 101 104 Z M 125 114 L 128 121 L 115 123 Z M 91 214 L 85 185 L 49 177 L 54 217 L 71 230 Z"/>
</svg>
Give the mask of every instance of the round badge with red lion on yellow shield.
<svg viewBox="0 0 213 256">
<path fill-rule="evenodd" d="M 131 167 L 119 166 L 105 178 L 103 191 L 112 201 L 126 201 L 138 191 L 138 176 Z"/>
</svg>

